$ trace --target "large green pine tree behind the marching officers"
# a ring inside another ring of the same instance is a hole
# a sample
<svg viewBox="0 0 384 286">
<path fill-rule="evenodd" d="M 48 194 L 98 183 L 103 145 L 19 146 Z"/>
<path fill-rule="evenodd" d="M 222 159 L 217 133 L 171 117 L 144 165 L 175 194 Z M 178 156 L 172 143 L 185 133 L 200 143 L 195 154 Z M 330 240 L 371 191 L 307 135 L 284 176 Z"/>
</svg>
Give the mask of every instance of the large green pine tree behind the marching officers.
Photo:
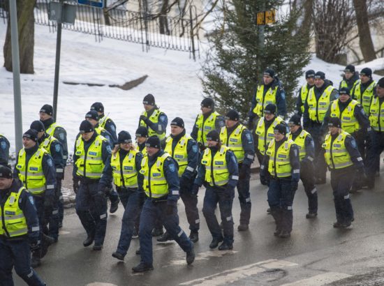
<svg viewBox="0 0 384 286">
<path fill-rule="evenodd" d="M 288 112 L 295 107 L 294 96 L 302 68 L 309 63 L 309 27 L 300 27 L 301 11 L 280 16 L 275 24 L 256 25 L 260 11 L 276 10 L 283 1 L 232 0 L 223 8 L 221 26 L 209 36 L 212 49 L 203 66 L 202 84 L 219 111 L 238 110 L 247 118 L 251 98 L 261 82 L 263 70 L 273 68 L 286 91 Z M 264 40 L 259 33 L 264 29 Z"/>
</svg>

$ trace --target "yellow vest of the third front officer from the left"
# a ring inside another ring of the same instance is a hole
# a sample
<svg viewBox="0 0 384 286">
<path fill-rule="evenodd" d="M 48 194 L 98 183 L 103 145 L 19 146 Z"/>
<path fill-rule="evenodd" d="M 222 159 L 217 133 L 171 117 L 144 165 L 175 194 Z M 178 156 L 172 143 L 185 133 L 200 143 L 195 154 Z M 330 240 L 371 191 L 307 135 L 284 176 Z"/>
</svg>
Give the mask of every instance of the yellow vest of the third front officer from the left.
<svg viewBox="0 0 384 286">
<path fill-rule="evenodd" d="M 103 141 L 107 141 L 103 136 L 97 135 L 94 142 L 89 146 L 87 156 L 85 156 L 84 141 L 82 137 L 76 141 L 75 154 L 78 157 L 75 164 L 77 166 L 77 175 L 89 179 L 100 179 L 103 173 L 104 163 L 102 158 Z M 84 166 L 84 164 L 86 164 Z"/>
</svg>

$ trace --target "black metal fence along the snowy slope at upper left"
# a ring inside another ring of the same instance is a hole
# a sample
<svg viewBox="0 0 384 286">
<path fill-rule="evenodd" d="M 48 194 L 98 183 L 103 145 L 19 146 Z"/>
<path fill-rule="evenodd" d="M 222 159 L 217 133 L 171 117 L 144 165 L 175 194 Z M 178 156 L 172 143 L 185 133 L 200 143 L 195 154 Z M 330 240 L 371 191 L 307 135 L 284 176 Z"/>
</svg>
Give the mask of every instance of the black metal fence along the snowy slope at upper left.
<svg viewBox="0 0 384 286">
<path fill-rule="evenodd" d="M 0 17 L 3 19 L 8 16 L 7 2 L 8 0 L 0 0 Z M 48 20 L 49 2 L 37 1 L 34 10 L 35 23 L 48 26 L 50 31 L 54 31 L 56 22 Z M 149 47 L 161 47 L 190 52 L 193 59 L 199 53 L 198 33 L 193 29 L 197 22 L 194 7 L 187 13 L 189 18 L 183 18 L 134 12 L 121 7 L 103 10 L 78 5 L 73 1 L 68 3 L 76 6 L 76 20 L 73 25 L 63 23 L 62 29 L 94 34 L 96 41 L 105 37 L 140 43 L 143 51 L 148 51 Z"/>
</svg>

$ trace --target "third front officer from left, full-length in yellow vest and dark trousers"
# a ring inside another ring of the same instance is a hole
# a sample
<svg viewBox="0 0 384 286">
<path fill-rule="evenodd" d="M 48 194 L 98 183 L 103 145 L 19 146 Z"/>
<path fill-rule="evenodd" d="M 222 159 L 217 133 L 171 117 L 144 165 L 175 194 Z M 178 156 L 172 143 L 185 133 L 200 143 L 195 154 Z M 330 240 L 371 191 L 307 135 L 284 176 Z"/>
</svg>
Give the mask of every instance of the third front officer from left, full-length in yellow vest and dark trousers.
<svg viewBox="0 0 384 286">
<path fill-rule="evenodd" d="M 83 246 L 87 247 L 95 242 L 93 249 L 101 250 L 107 229 L 107 200 L 105 192 L 98 188 L 98 181 L 112 152 L 108 141 L 95 132 L 89 121 L 82 121 L 80 134 L 73 153 L 76 213 L 87 232 Z"/>
</svg>

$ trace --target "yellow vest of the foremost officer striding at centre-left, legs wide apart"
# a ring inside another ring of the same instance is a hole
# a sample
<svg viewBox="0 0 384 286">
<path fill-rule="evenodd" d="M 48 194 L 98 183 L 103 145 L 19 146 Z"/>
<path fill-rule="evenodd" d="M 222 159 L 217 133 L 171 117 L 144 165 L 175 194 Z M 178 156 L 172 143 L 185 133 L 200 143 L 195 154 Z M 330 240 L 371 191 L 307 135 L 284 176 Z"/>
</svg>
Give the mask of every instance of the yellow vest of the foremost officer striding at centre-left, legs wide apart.
<svg viewBox="0 0 384 286">
<path fill-rule="evenodd" d="M 140 174 L 144 176 L 142 188 L 147 197 L 157 199 L 168 195 L 168 182 L 165 179 L 163 167 L 165 159 L 169 156 L 168 153 L 158 156 L 151 168 L 148 166 L 148 157 L 142 158 Z"/>
</svg>

